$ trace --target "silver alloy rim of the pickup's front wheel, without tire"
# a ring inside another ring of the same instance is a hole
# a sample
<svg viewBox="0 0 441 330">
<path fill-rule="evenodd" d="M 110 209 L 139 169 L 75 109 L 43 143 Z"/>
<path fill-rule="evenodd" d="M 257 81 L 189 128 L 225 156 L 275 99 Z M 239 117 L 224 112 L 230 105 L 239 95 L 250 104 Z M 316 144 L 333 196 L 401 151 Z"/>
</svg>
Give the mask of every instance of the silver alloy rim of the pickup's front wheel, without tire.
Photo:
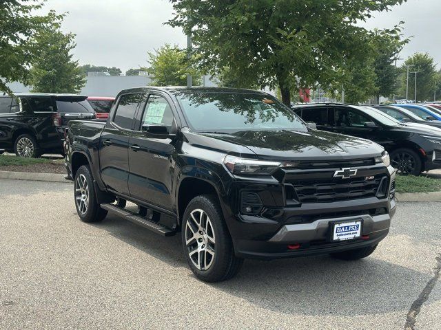
<svg viewBox="0 0 441 330">
<path fill-rule="evenodd" d="M 185 244 L 193 265 L 208 270 L 214 261 L 214 230 L 207 213 L 199 208 L 190 213 L 185 225 Z"/>
</svg>

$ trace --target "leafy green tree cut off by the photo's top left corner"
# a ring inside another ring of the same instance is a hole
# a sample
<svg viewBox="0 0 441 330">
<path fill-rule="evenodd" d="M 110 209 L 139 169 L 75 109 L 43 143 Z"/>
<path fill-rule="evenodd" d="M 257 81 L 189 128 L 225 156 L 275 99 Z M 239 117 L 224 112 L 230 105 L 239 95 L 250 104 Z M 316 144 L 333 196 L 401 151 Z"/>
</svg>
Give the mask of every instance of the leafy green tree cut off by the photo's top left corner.
<svg viewBox="0 0 441 330">
<path fill-rule="evenodd" d="M 28 84 L 30 63 L 41 48 L 32 36 L 61 23 L 63 15 L 53 11 L 34 14 L 42 7 L 39 0 L 0 1 L 0 91 L 10 91 L 6 83 L 12 81 Z"/>
</svg>

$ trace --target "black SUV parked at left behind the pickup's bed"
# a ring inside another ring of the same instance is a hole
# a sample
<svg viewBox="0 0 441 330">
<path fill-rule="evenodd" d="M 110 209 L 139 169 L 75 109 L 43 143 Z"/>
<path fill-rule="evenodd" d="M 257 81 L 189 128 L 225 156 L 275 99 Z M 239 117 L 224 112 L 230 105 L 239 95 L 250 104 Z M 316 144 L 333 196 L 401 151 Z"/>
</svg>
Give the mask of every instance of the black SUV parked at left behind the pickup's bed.
<svg viewBox="0 0 441 330">
<path fill-rule="evenodd" d="M 68 94 L 0 96 L 0 149 L 20 157 L 63 153 L 69 120 L 95 118 L 86 99 Z"/>
</svg>

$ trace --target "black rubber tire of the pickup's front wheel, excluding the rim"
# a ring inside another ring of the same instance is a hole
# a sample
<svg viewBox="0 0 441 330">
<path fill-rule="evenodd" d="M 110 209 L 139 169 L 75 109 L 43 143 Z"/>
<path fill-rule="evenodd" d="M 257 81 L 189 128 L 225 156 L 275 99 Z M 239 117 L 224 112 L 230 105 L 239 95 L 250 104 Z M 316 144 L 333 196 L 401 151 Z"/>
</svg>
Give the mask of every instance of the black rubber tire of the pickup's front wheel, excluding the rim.
<svg viewBox="0 0 441 330">
<path fill-rule="evenodd" d="M 185 230 L 187 221 L 190 217 L 190 213 L 198 208 L 207 213 L 210 221 L 212 222 L 214 236 L 216 239 L 214 261 L 208 270 L 198 270 L 193 265 L 188 255 L 187 245 L 185 244 Z M 235 257 L 232 256 L 232 254 L 234 254 L 232 239 L 229 236 L 227 226 L 223 220 L 223 214 L 220 212 L 220 206 L 216 204 L 212 196 L 198 196 L 189 202 L 184 212 L 181 234 L 185 258 L 187 259 L 187 263 L 192 272 L 194 272 L 194 274 L 196 274 L 196 276 L 201 278 L 203 281 L 222 281 L 223 277 L 227 273 L 231 259 Z"/>
</svg>

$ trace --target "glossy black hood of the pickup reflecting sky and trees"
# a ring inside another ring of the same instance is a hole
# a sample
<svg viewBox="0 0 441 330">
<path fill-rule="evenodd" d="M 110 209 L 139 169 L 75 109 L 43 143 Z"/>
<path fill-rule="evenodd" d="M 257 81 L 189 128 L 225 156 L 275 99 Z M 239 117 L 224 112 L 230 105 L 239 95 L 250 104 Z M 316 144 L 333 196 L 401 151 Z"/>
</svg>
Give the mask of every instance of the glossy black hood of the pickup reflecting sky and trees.
<svg viewBox="0 0 441 330">
<path fill-rule="evenodd" d="M 325 131 L 240 131 L 231 134 L 192 133 L 198 144 L 212 146 L 217 140 L 225 149 L 225 142 L 245 146 L 260 159 L 357 159 L 376 157 L 384 148 L 369 140 L 328 133 Z M 191 142 L 190 142 L 191 143 Z"/>
</svg>

